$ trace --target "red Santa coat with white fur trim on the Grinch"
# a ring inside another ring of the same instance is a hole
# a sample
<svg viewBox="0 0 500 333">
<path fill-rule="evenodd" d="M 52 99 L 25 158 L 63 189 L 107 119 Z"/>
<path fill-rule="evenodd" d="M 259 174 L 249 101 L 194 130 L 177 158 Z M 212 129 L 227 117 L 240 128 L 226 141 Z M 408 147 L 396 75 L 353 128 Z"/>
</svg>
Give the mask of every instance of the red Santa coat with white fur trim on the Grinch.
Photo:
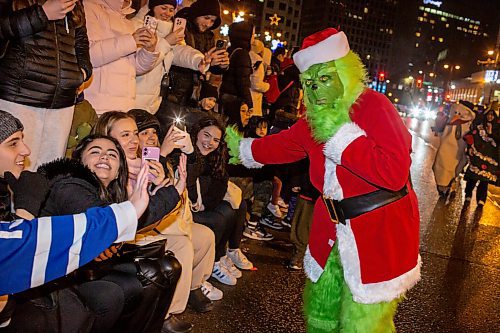
<svg viewBox="0 0 500 333">
<path fill-rule="evenodd" d="M 312 184 L 335 200 L 373 192 L 375 184 L 409 193 L 398 201 L 346 221 L 330 220 L 316 201 L 304 259 L 308 277 L 321 276 L 336 241 L 344 277 L 359 303 L 391 301 L 420 279 L 419 212 L 409 183 L 411 135 L 385 96 L 366 89 L 343 125 L 326 144 L 317 143 L 306 120 L 261 139 L 243 139 L 240 159 L 247 167 L 310 160 Z"/>
</svg>

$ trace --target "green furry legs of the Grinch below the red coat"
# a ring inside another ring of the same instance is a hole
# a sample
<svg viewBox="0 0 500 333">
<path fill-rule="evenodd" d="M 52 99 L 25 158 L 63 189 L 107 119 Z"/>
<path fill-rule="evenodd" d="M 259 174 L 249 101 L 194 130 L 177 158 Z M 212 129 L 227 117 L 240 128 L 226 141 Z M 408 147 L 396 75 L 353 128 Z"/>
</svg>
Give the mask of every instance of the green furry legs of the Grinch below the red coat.
<svg viewBox="0 0 500 333">
<path fill-rule="evenodd" d="M 344 281 L 337 245 L 317 283 L 307 280 L 304 311 L 308 333 L 395 332 L 394 315 L 401 299 L 377 304 L 356 303 Z"/>
</svg>

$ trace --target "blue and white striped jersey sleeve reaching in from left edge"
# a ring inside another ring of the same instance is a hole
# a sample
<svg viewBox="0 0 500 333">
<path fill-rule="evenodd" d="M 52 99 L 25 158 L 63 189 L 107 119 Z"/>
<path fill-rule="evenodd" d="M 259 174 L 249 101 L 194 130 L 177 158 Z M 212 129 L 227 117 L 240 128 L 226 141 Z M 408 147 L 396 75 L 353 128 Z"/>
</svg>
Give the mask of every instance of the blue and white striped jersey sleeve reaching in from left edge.
<svg viewBox="0 0 500 333">
<path fill-rule="evenodd" d="M 0 222 L 0 295 L 69 274 L 112 243 L 134 239 L 136 229 L 128 201 L 78 215 Z"/>
</svg>

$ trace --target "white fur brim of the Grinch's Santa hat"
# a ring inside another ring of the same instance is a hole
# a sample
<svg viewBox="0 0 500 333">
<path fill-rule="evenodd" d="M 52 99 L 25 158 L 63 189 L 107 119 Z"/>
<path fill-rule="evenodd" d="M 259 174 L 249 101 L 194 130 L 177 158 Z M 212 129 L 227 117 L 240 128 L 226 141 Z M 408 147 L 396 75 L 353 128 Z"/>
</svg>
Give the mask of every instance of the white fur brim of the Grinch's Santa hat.
<svg viewBox="0 0 500 333">
<path fill-rule="evenodd" d="M 343 31 L 311 45 L 293 55 L 293 61 L 301 73 L 309 67 L 324 62 L 337 60 L 349 53 L 349 42 Z"/>
</svg>

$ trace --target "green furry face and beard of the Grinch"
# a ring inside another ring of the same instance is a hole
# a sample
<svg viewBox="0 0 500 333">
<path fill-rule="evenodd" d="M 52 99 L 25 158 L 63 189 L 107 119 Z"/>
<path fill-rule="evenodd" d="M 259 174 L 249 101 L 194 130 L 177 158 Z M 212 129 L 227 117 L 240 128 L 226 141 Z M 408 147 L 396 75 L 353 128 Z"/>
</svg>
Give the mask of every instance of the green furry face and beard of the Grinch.
<svg viewBox="0 0 500 333">
<path fill-rule="evenodd" d="M 313 137 L 326 142 L 350 122 L 349 112 L 365 89 L 366 70 L 352 51 L 334 61 L 316 64 L 300 75 L 307 122 Z"/>
</svg>

